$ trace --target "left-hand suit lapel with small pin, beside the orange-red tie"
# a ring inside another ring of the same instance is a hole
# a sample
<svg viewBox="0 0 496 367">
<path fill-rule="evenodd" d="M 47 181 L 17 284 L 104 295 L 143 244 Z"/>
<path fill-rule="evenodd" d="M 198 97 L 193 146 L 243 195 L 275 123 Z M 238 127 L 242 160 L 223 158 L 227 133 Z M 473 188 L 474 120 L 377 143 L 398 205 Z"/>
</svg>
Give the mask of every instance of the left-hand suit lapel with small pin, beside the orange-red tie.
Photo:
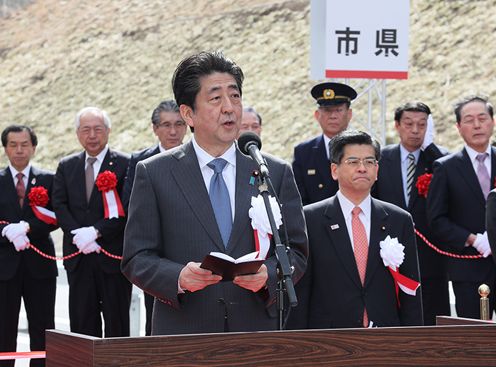
<svg viewBox="0 0 496 367">
<path fill-rule="evenodd" d="M 360 274 L 358 273 L 355 254 L 353 253 L 353 247 L 350 242 L 343 211 L 341 210 L 341 205 L 339 205 L 337 196 L 333 196 L 330 199 L 324 216 L 327 218 L 327 221 L 324 221 L 324 226 L 329 235 L 331 245 L 336 249 L 338 258 L 343 263 L 343 267 L 346 269 L 349 277 L 357 287 L 361 288 L 362 282 L 360 280 Z"/>
</svg>

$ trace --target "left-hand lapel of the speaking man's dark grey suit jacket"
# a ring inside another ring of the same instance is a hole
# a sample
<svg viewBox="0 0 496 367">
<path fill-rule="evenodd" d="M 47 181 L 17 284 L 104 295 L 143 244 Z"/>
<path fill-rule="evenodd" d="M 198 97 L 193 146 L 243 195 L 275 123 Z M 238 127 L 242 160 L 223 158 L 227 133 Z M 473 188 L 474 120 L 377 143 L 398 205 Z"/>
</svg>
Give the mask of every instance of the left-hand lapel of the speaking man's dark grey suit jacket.
<svg viewBox="0 0 496 367">
<path fill-rule="evenodd" d="M 193 148 L 193 143 L 188 142 L 173 153 L 173 156 L 181 161 L 172 170 L 179 190 L 181 190 L 188 202 L 191 211 L 198 218 L 209 237 L 222 252 L 225 251 L 224 243 L 220 235 L 214 210 L 210 203 L 207 188 L 200 171 L 200 165 Z"/>
</svg>

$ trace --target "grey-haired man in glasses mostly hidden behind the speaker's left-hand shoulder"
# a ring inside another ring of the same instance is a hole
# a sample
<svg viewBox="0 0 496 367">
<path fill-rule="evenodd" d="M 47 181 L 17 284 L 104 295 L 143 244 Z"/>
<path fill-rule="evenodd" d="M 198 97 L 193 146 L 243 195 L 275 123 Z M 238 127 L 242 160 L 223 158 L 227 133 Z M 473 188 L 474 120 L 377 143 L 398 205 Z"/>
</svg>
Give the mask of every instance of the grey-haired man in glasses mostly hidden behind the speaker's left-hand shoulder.
<svg viewBox="0 0 496 367">
<path fill-rule="evenodd" d="M 138 162 L 145 160 L 155 154 L 165 152 L 183 143 L 186 135 L 186 123 L 181 118 L 179 107 L 173 100 L 162 101 L 153 110 L 152 129 L 157 136 L 159 143 L 153 147 L 143 149 L 131 155 L 131 160 L 127 167 L 126 180 L 122 189 L 122 203 L 126 209 L 129 206 L 129 198 L 133 189 L 134 173 Z M 147 293 L 145 294 L 146 324 L 145 335 L 151 335 L 152 330 L 152 311 L 154 298 Z"/>
</svg>

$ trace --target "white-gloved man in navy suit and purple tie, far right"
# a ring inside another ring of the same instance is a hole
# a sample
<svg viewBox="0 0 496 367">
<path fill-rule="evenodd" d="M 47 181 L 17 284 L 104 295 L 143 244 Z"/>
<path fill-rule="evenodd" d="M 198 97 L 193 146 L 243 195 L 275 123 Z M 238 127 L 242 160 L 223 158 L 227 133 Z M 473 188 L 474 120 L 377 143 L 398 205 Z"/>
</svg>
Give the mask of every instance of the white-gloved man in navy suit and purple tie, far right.
<svg viewBox="0 0 496 367">
<path fill-rule="evenodd" d="M 455 105 L 454 112 L 465 146 L 434 162 L 427 217 L 444 250 L 482 256 L 448 258 L 457 315 L 479 318 L 477 290 L 482 283 L 492 290 L 491 314 L 494 307 L 495 269 L 485 225 L 486 198 L 496 175 L 496 149 L 489 144 L 494 130 L 493 106 L 483 97 L 469 96 Z"/>
</svg>

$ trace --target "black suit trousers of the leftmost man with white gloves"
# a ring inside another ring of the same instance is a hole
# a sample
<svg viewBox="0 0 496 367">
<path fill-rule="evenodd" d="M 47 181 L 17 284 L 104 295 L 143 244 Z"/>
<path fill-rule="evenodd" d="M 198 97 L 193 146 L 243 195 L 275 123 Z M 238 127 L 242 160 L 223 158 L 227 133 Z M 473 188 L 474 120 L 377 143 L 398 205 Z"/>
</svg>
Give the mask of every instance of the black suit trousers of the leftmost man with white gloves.
<svg viewBox="0 0 496 367">
<path fill-rule="evenodd" d="M 45 330 L 55 328 L 56 284 L 55 277 L 34 278 L 23 261 L 13 278 L 0 281 L 0 351 L 16 351 L 21 297 L 28 319 L 30 349 L 45 350 Z M 30 365 L 44 366 L 45 360 L 33 359 Z M 0 361 L 0 366 L 14 366 L 14 361 Z"/>
</svg>

